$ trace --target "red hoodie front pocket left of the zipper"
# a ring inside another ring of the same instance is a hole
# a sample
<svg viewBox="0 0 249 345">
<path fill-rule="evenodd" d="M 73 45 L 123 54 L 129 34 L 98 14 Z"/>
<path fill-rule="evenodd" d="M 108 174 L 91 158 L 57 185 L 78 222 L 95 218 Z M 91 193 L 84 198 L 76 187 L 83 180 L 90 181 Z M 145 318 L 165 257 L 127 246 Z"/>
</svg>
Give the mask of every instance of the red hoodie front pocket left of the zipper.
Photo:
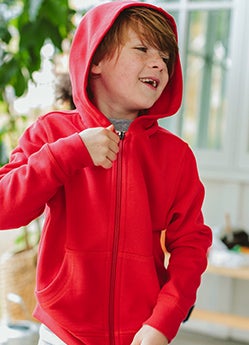
<svg viewBox="0 0 249 345">
<path fill-rule="evenodd" d="M 108 253 L 67 251 L 53 281 L 36 291 L 41 307 L 74 334 L 103 331 L 108 310 L 108 260 Z"/>
</svg>

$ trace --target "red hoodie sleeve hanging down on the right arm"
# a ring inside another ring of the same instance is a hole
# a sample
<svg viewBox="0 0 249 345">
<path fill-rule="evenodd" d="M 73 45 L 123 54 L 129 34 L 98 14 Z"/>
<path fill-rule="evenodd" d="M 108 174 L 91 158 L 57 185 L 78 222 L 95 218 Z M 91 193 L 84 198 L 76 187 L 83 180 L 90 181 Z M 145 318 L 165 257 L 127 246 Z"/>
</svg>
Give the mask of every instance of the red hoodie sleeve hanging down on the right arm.
<svg viewBox="0 0 249 345">
<path fill-rule="evenodd" d="M 165 334 L 169 341 L 195 303 L 212 241 L 211 230 L 204 224 L 201 212 L 204 188 L 190 149 L 185 152 L 177 180 L 166 230 L 166 248 L 170 253 L 167 281 L 145 322 Z"/>
</svg>

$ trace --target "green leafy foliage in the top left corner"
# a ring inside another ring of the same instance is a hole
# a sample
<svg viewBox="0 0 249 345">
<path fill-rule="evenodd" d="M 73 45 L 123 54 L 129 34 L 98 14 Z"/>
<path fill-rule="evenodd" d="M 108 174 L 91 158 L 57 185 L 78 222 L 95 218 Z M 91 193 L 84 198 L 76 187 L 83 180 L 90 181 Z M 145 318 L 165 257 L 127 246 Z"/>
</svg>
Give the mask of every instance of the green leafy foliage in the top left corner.
<svg viewBox="0 0 249 345">
<path fill-rule="evenodd" d="M 0 100 L 7 88 L 17 97 L 41 66 L 40 51 L 50 41 L 58 51 L 74 29 L 68 0 L 0 0 Z"/>
</svg>

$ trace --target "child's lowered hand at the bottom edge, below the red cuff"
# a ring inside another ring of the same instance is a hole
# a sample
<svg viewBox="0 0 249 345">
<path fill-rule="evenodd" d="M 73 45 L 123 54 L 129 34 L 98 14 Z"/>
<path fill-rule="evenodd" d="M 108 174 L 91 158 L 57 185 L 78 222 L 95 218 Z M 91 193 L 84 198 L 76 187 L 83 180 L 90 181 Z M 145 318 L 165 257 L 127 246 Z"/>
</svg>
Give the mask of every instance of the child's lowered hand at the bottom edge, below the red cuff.
<svg viewBox="0 0 249 345">
<path fill-rule="evenodd" d="M 168 340 L 157 329 L 144 325 L 135 335 L 131 345 L 168 345 Z"/>
</svg>

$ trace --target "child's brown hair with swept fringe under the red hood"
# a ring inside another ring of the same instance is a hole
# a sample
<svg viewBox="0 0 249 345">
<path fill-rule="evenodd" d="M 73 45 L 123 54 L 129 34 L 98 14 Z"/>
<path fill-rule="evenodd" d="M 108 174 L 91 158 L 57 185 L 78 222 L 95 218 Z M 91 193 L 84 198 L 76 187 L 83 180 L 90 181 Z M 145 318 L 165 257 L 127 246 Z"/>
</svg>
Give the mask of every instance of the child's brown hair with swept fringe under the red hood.
<svg viewBox="0 0 249 345">
<path fill-rule="evenodd" d="M 103 58 L 111 58 L 116 49 L 121 49 L 128 28 L 136 31 L 142 42 L 169 55 L 167 67 L 169 75 L 172 75 L 178 53 L 176 36 L 162 13 L 143 6 L 130 7 L 121 12 L 98 46 L 93 63 L 98 64 Z"/>
</svg>

